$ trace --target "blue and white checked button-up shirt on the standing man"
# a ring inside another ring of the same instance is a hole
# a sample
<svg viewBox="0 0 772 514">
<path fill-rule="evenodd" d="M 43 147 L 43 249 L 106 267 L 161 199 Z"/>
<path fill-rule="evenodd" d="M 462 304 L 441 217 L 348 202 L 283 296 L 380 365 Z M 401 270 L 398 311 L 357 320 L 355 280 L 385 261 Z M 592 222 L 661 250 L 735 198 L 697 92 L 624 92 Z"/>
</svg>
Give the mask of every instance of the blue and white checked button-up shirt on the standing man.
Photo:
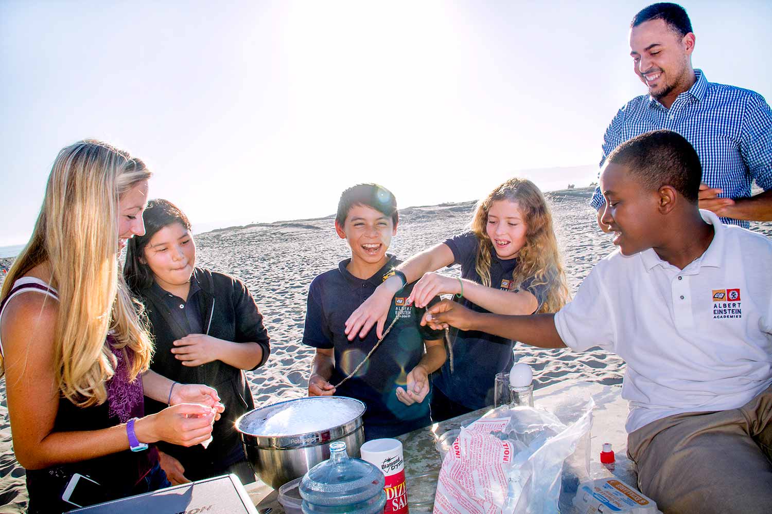
<svg viewBox="0 0 772 514">
<path fill-rule="evenodd" d="M 684 136 L 703 164 L 703 182 L 720 187 L 720 197 L 750 197 L 753 180 L 772 189 L 772 111 L 764 97 L 749 89 L 708 82 L 700 69 L 697 81 L 675 99 L 670 109 L 651 96 L 636 96 L 606 129 L 601 166 L 609 153 L 631 137 L 657 129 Z M 591 205 L 605 201 L 596 188 Z M 748 227 L 747 221 L 721 218 Z"/>
</svg>

